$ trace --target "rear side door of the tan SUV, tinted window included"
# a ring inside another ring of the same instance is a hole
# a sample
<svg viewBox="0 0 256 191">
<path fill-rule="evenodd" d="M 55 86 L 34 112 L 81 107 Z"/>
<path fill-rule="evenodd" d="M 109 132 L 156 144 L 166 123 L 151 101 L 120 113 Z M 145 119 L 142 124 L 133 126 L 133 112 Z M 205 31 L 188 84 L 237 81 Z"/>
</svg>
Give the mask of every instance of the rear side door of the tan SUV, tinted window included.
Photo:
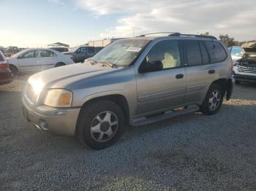
<svg viewBox="0 0 256 191">
<path fill-rule="evenodd" d="M 182 40 L 187 75 L 187 104 L 203 101 L 209 85 L 217 79 L 217 66 L 211 62 L 206 45 L 202 40 Z"/>
</svg>

